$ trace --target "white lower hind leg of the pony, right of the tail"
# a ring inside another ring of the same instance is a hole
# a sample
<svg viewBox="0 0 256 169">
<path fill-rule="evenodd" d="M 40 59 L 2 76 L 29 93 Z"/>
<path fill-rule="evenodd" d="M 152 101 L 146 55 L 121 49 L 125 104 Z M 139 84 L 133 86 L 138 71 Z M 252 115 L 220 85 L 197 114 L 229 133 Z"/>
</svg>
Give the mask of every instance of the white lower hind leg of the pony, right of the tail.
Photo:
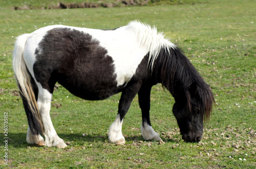
<svg viewBox="0 0 256 169">
<path fill-rule="evenodd" d="M 37 106 L 44 127 L 45 145 L 47 147 L 65 148 L 67 145 L 57 135 L 50 117 L 52 94 L 46 89 L 38 88 Z"/>
</svg>

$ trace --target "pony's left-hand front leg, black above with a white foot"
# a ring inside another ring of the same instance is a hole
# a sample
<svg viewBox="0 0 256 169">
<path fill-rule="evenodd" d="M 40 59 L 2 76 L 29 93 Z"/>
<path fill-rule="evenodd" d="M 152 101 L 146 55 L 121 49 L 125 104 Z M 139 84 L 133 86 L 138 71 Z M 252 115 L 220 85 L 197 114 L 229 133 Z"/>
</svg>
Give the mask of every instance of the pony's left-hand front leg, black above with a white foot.
<svg viewBox="0 0 256 169">
<path fill-rule="evenodd" d="M 134 83 L 129 87 L 126 87 L 124 91 L 122 91 L 122 95 L 118 105 L 118 114 L 116 116 L 116 120 L 112 123 L 109 129 L 109 139 L 111 142 L 116 143 L 118 145 L 125 144 L 125 138 L 122 134 L 122 123 L 123 118 L 128 111 L 133 98 L 138 93 L 140 88 L 140 84 Z"/>
</svg>

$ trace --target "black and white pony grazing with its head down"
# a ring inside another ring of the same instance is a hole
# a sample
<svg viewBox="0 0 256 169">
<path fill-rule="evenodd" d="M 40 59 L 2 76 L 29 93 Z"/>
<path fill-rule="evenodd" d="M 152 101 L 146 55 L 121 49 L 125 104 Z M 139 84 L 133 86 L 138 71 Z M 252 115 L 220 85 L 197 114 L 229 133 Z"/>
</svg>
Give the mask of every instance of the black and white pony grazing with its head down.
<svg viewBox="0 0 256 169">
<path fill-rule="evenodd" d="M 51 25 L 21 35 L 13 70 L 28 117 L 27 142 L 48 147 L 67 146 L 50 118 L 56 82 L 87 100 L 122 92 L 109 128 L 109 139 L 116 144 L 125 143 L 122 122 L 137 93 L 144 139 L 161 140 L 150 122 L 151 88 L 157 83 L 175 98 L 173 113 L 186 142 L 200 141 L 214 102 L 209 86 L 183 52 L 155 27 L 138 21 L 115 30 Z"/>
</svg>

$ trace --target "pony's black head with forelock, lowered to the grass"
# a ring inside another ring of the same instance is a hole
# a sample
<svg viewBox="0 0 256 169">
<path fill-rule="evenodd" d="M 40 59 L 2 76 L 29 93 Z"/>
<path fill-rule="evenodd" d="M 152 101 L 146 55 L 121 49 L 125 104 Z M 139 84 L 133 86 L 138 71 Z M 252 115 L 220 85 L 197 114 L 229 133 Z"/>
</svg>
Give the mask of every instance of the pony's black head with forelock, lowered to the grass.
<svg viewBox="0 0 256 169">
<path fill-rule="evenodd" d="M 197 82 L 189 86 L 185 96 L 176 99 L 173 113 L 182 139 L 185 142 L 199 142 L 203 134 L 203 121 L 210 116 L 213 97 L 206 83 L 202 87 Z"/>
</svg>

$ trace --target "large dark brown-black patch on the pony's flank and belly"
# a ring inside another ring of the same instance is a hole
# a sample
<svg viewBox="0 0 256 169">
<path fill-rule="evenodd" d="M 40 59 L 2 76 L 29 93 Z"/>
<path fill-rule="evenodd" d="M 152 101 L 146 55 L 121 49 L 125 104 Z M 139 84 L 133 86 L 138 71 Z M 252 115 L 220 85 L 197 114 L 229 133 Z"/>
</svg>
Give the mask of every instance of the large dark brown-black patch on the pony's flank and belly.
<svg viewBox="0 0 256 169">
<path fill-rule="evenodd" d="M 53 93 L 56 82 L 87 100 L 108 98 L 117 88 L 113 59 L 91 35 L 69 28 L 47 32 L 35 50 L 35 78 Z"/>
</svg>

